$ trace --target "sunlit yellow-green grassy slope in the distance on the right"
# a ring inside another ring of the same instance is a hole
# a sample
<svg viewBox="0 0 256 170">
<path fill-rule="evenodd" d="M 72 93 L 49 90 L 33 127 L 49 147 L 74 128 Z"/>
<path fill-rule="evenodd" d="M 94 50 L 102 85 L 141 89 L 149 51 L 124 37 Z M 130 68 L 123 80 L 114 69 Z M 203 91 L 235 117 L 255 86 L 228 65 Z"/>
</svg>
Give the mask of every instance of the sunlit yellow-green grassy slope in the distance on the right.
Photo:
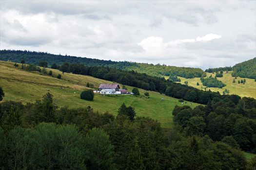
<svg viewBox="0 0 256 170">
<path fill-rule="evenodd" d="M 219 91 L 221 94 L 222 92 L 225 90 L 225 88 L 227 88 L 230 91 L 230 94 L 236 94 L 239 95 L 241 97 L 253 97 L 256 99 L 256 82 L 254 79 L 249 79 L 249 78 L 245 78 L 246 79 L 246 83 L 245 85 L 243 84 L 238 84 L 238 80 L 243 80 L 244 78 L 239 78 L 237 77 L 236 79 L 236 83 L 232 83 L 233 79 L 235 77 L 231 76 L 232 71 L 229 71 L 228 73 L 224 72 L 223 73 L 223 77 L 218 77 L 217 79 L 222 81 L 224 84 L 226 84 L 225 87 L 221 88 L 217 88 L 217 87 L 210 87 L 207 88 L 211 89 L 211 91 Z M 207 76 L 210 76 L 211 73 L 207 73 Z M 213 77 L 215 77 L 215 74 L 213 74 Z M 165 78 L 169 78 L 169 77 L 165 77 Z M 186 78 L 182 78 L 182 77 L 178 77 L 181 80 L 181 84 L 184 84 L 185 81 L 188 82 L 188 85 L 193 86 L 195 88 L 204 90 L 204 87 L 200 81 L 200 78 L 193 78 L 193 79 L 186 79 Z M 197 82 L 199 83 L 199 85 L 197 85 Z"/>
</svg>

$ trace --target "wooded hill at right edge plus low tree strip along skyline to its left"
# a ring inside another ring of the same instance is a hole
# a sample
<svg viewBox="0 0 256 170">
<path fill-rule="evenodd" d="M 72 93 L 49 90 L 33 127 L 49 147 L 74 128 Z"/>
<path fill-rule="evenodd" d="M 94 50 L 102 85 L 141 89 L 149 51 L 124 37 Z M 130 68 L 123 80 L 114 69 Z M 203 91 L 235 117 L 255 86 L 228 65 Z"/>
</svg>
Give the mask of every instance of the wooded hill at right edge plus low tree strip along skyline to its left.
<svg viewBox="0 0 256 170">
<path fill-rule="evenodd" d="M 238 63 L 233 67 L 224 67 L 224 68 L 208 68 L 205 72 L 217 72 L 217 71 L 231 71 L 233 70 L 233 77 L 242 77 L 256 79 L 256 58 L 253 58 L 242 63 Z"/>
</svg>

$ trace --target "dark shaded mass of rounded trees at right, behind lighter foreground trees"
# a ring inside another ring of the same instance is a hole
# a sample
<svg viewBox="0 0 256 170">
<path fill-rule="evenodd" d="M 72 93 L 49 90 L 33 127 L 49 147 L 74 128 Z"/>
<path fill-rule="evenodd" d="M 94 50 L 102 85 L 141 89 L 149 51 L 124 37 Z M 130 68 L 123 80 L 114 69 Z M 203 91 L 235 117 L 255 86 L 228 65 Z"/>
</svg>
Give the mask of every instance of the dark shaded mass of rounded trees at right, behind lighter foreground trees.
<svg viewBox="0 0 256 170">
<path fill-rule="evenodd" d="M 256 153 L 256 100 L 253 98 L 237 98 L 226 103 L 212 101 L 194 109 L 176 106 L 173 115 L 187 136 L 208 135 L 233 148 Z"/>
</svg>

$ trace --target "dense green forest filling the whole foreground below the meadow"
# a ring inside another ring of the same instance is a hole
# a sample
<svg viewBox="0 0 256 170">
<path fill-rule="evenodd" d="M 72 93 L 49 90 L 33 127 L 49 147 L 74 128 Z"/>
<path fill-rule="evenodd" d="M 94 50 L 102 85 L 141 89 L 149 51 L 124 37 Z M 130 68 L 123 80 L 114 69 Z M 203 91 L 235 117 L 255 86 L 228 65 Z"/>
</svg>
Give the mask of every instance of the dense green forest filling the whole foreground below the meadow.
<svg viewBox="0 0 256 170">
<path fill-rule="evenodd" d="M 176 107 L 175 125 L 87 108 L 58 108 L 47 93 L 35 103 L 0 102 L 2 170 L 253 170 L 254 99 Z M 245 103 L 245 105 L 244 105 Z M 253 111 L 253 112 L 252 112 Z M 160 114 L 160 113 L 159 113 Z"/>
</svg>

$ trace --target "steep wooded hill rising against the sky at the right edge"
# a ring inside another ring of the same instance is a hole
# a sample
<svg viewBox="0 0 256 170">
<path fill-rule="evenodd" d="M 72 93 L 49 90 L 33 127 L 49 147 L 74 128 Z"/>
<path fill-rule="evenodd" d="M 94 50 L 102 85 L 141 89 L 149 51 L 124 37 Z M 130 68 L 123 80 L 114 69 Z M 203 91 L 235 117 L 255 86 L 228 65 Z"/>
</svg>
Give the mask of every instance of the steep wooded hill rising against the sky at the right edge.
<svg viewBox="0 0 256 170">
<path fill-rule="evenodd" d="M 256 58 L 238 63 L 233 67 L 233 77 L 256 78 Z"/>
</svg>

